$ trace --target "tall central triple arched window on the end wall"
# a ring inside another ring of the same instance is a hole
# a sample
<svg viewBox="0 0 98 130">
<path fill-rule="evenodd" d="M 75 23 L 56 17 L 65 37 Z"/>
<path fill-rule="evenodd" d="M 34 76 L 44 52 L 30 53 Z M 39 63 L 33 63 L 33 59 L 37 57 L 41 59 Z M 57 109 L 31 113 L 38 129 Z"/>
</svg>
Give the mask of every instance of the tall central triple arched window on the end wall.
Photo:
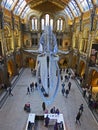
<svg viewBox="0 0 98 130">
<path fill-rule="evenodd" d="M 45 14 L 41 19 L 41 29 L 44 30 L 45 26 L 50 26 L 53 30 L 53 19 L 49 14 Z"/>
</svg>

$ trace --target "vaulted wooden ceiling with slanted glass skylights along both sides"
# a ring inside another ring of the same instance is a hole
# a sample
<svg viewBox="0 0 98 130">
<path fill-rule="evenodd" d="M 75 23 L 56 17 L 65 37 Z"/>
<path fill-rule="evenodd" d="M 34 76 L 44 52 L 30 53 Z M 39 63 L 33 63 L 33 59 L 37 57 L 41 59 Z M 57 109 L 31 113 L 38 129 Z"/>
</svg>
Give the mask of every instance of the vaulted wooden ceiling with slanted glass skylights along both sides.
<svg viewBox="0 0 98 130">
<path fill-rule="evenodd" d="M 1 7 L 23 19 L 33 10 L 51 13 L 64 11 L 70 19 L 74 19 L 95 6 L 98 6 L 98 0 L 1 0 Z"/>
</svg>

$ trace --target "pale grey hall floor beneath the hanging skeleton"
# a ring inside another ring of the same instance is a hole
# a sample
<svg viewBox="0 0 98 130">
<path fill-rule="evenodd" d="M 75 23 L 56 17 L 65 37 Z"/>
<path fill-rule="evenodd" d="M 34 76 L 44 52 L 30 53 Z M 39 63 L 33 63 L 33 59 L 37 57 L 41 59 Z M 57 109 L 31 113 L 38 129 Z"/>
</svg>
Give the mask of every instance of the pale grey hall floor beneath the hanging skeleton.
<svg viewBox="0 0 98 130">
<path fill-rule="evenodd" d="M 38 91 L 34 90 L 30 95 L 26 95 L 27 86 L 29 86 L 32 81 L 36 82 L 36 78 L 32 77 L 30 69 L 25 69 L 12 91 L 14 96 L 9 96 L 0 109 L 0 130 L 25 129 L 28 113 L 26 113 L 23 108 L 27 102 L 31 104 L 32 113 L 37 115 L 43 114 L 43 101 Z M 53 106 L 59 108 L 60 112 L 64 115 L 67 130 L 98 130 L 98 124 L 76 86 L 75 81 L 71 80 L 71 82 L 72 88 L 68 98 L 62 96 L 60 83 L 59 91 L 54 102 L 50 106 L 47 106 L 48 110 Z M 65 86 L 67 87 L 67 83 Z M 84 104 L 84 112 L 80 119 L 81 125 L 79 125 L 75 123 L 75 117 L 81 103 Z M 40 128 L 40 130 L 43 130 L 43 128 Z"/>
</svg>

